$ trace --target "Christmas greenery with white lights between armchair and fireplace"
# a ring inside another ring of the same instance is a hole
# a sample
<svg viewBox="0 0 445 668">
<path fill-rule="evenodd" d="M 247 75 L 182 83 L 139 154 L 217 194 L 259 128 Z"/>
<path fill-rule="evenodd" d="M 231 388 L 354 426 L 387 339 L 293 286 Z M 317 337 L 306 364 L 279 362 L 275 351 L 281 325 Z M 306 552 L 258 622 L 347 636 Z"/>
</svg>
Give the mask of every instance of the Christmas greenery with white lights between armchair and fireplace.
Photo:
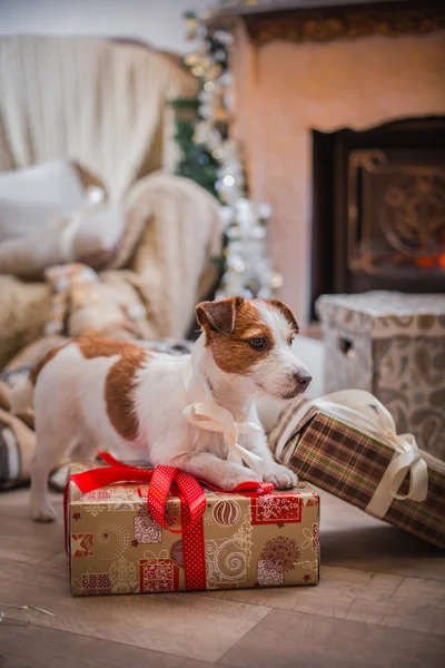
<svg viewBox="0 0 445 668">
<path fill-rule="evenodd" d="M 233 37 L 208 30 L 194 12 L 185 14 L 187 38 L 195 49 L 184 66 L 198 80 L 194 98 L 171 104 L 176 109 L 176 140 L 181 157 L 177 173 L 192 179 L 221 204 L 222 256 L 216 297 L 270 297 L 283 278 L 273 271 L 266 252 L 268 205 L 254 206 L 245 186 L 243 165 L 229 136 L 233 77 L 229 55 Z"/>
</svg>

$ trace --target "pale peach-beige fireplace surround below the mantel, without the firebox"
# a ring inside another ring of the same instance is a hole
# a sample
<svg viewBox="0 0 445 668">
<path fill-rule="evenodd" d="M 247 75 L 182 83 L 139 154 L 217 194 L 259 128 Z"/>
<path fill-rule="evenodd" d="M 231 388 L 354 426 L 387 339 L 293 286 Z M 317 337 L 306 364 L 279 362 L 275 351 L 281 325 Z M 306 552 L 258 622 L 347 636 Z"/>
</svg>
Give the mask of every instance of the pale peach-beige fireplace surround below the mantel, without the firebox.
<svg viewBox="0 0 445 668">
<path fill-rule="evenodd" d="M 362 19 L 363 11 L 362 6 Z M 283 12 L 267 14 L 256 30 L 245 18 L 231 18 L 233 132 L 250 196 L 273 207 L 270 250 L 285 278 L 280 297 L 304 327 L 309 321 L 312 131 L 364 130 L 445 115 L 445 31 L 439 11 L 438 20 L 435 14 L 426 23 L 402 21 L 402 28 L 394 20 L 386 28 L 384 21 L 362 20 L 365 30 L 350 30 L 346 21 L 344 32 L 338 22 L 327 23 L 334 27 L 330 35 L 314 24 L 305 31 L 299 21 L 298 30 L 286 33 L 291 13 L 285 21 Z"/>
</svg>

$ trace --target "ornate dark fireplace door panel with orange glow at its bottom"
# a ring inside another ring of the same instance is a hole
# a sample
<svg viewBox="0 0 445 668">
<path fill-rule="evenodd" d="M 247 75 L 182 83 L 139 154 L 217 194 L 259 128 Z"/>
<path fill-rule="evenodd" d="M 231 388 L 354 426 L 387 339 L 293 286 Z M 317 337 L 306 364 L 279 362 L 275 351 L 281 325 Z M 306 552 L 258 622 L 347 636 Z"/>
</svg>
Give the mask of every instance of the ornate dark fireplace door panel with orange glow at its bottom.
<svg viewBox="0 0 445 668">
<path fill-rule="evenodd" d="M 422 279 L 445 271 L 443 151 L 352 151 L 348 179 L 353 274 Z"/>
</svg>

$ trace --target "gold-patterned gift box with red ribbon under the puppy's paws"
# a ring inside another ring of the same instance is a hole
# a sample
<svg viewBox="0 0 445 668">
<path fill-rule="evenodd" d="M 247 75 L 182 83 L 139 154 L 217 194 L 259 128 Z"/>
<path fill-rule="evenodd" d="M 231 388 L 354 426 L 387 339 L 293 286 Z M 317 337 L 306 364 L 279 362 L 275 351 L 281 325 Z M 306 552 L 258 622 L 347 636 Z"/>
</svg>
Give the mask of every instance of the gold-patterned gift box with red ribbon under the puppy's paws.
<svg viewBox="0 0 445 668">
<path fill-rule="evenodd" d="M 291 491 L 265 493 L 205 489 L 201 517 L 181 533 L 200 504 L 202 488 L 195 479 L 184 473 L 179 474 L 184 480 L 176 477 L 164 507 L 164 492 L 156 489 L 155 478 L 149 484 L 144 482 L 150 471 L 137 469 L 140 482 L 91 490 L 88 480 L 85 484 L 77 474 L 95 472 L 95 466 L 72 465 L 67 485 L 66 532 L 72 595 L 318 582 L 319 498 L 308 484 L 301 482 Z M 161 469 L 168 468 L 156 471 Z M 100 471 L 107 477 L 105 468 Z M 100 483 L 107 482 L 101 473 L 99 478 Z M 115 477 L 119 478 L 135 479 L 128 470 Z M 190 485 L 187 479 L 191 479 Z"/>
</svg>

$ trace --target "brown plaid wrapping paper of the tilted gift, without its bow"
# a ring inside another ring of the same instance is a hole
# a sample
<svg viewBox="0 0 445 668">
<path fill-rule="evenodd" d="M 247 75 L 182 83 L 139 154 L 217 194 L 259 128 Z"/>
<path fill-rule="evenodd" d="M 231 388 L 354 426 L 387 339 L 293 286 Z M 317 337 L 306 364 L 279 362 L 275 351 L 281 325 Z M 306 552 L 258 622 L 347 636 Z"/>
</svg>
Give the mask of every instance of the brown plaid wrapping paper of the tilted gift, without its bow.
<svg viewBox="0 0 445 668">
<path fill-rule="evenodd" d="M 445 549 L 443 462 L 419 451 L 428 462 L 426 499 L 419 502 L 392 498 L 383 515 L 372 512 L 368 505 L 395 456 L 394 448 L 314 405 L 300 420 L 296 420 L 305 403 L 297 401 L 285 409 L 270 434 L 269 445 L 277 459 L 303 479 L 332 494 Z M 369 402 L 369 405 L 382 406 L 377 401 Z M 408 478 L 409 472 L 402 478 L 398 495 L 408 493 Z"/>
</svg>

